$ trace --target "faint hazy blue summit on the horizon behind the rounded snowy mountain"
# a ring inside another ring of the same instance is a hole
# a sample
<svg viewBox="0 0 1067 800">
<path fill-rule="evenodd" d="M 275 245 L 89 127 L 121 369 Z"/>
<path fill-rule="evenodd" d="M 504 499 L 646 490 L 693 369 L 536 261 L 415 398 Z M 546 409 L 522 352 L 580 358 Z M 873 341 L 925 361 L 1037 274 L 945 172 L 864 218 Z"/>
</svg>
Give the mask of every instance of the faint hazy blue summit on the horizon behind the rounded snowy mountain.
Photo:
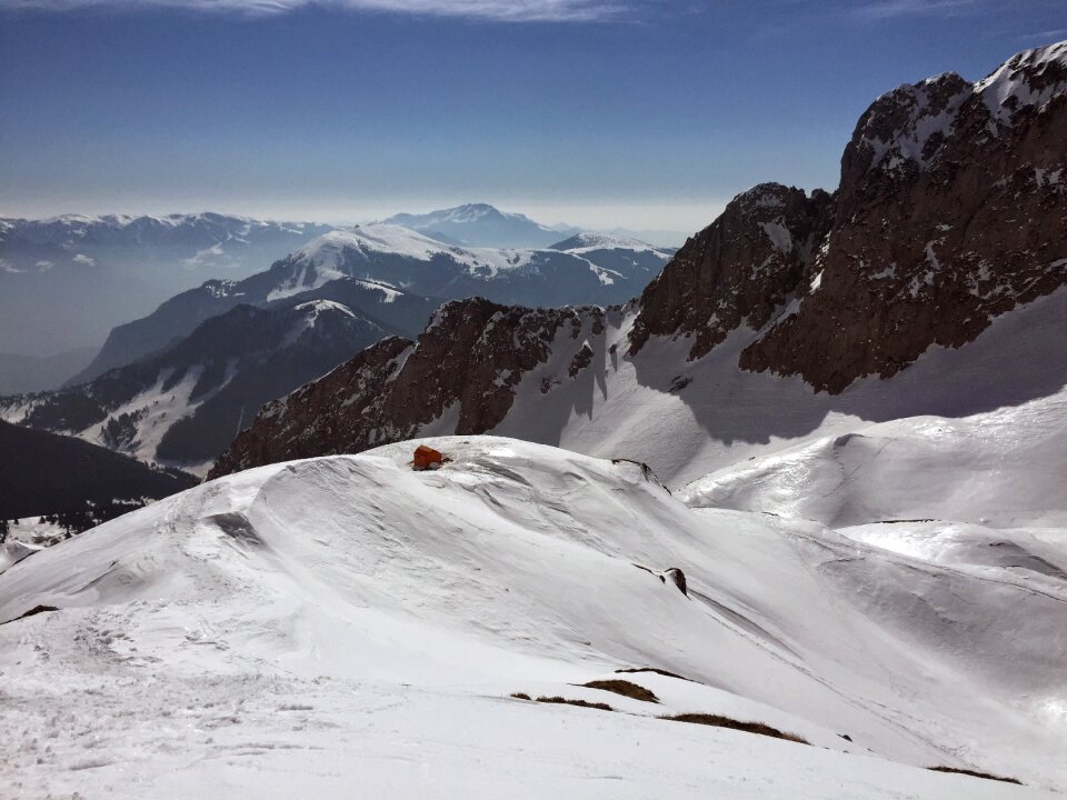
<svg viewBox="0 0 1067 800">
<path fill-rule="evenodd" d="M 466 203 L 423 214 L 400 213 L 386 220 L 450 244 L 490 248 L 547 248 L 577 228 L 548 227 L 488 203 Z"/>
</svg>

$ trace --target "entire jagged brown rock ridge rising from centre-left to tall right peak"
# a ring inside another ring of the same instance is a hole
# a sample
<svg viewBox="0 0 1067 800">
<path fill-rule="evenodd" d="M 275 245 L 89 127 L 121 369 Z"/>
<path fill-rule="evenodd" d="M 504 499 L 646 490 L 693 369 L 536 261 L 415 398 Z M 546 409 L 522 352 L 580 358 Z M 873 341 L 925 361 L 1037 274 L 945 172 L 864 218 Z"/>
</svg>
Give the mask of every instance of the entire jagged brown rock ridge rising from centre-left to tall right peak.
<svg viewBox="0 0 1067 800">
<path fill-rule="evenodd" d="M 687 389 L 692 376 L 730 337 L 740 342 L 732 362 L 708 367 L 718 382 L 740 367 L 836 394 L 865 376 L 893 377 L 930 346 L 973 341 L 1067 282 L 1065 141 L 1067 42 L 1020 53 L 975 84 L 949 74 L 901 87 L 860 119 L 834 196 L 779 184 L 738 196 L 622 308 L 450 304 L 417 343 L 378 346 L 265 409 L 212 474 L 428 432 L 500 430 L 520 386 L 547 398 L 595 374 L 607 401 L 620 360 L 632 361 L 638 384 L 695 407 L 706 387 Z M 610 336 L 598 337 L 605 320 Z M 576 338 L 554 339 L 567 324 Z M 647 356 L 654 340 L 685 350 Z M 539 344 L 523 352 L 530 342 Z M 567 413 L 591 416 L 592 404 L 584 396 Z M 521 413 L 508 432 L 540 424 L 531 406 Z M 555 434 L 530 436 L 558 441 L 560 419 Z"/>
</svg>

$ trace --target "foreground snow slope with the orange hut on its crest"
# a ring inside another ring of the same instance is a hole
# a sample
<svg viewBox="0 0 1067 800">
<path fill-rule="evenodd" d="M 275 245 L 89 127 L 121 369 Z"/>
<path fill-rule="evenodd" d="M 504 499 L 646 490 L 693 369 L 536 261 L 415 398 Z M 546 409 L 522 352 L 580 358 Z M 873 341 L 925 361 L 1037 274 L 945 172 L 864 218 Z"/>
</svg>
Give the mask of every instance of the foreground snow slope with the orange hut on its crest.
<svg viewBox="0 0 1067 800">
<path fill-rule="evenodd" d="M 0 574 L 0 780 L 27 798 L 1067 787 L 1067 588 L 1048 570 L 690 509 L 632 462 L 430 443 L 452 459 L 437 471 L 411 471 L 412 443 L 265 467 Z M 1044 557 L 1067 563 L 1063 539 Z M 60 610 L 18 619 L 38 607 Z M 690 680 L 615 672 L 645 667 Z M 618 678 L 660 702 L 575 686 Z M 656 719 L 685 712 L 811 747 Z M 915 769 L 935 764 L 1027 787 Z"/>
</svg>

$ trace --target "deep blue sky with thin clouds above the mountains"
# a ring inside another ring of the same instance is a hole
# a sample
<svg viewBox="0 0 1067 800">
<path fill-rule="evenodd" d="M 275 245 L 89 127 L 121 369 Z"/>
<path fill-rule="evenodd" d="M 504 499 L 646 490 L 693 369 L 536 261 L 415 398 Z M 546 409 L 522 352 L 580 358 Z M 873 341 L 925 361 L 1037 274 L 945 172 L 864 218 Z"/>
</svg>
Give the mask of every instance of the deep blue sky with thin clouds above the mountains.
<svg viewBox="0 0 1067 800">
<path fill-rule="evenodd" d="M 1064 38 L 1063 0 L 0 0 L 0 214 L 691 231 L 832 189 L 881 92 Z"/>
</svg>

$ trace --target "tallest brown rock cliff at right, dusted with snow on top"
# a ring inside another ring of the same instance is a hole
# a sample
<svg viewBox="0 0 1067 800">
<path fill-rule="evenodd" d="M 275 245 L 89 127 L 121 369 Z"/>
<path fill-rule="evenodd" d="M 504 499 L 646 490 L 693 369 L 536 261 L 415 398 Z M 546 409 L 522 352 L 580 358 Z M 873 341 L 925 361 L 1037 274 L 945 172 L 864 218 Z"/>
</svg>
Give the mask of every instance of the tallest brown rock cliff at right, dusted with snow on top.
<svg viewBox="0 0 1067 800">
<path fill-rule="evenodd" d="M 839 392 L 959 347 L 1067 280 L 1067 42 L 879 98 L 796 313 L 740 366 Z M 670 268 L 668 268 L 670 269 Z"/>
</svg>

